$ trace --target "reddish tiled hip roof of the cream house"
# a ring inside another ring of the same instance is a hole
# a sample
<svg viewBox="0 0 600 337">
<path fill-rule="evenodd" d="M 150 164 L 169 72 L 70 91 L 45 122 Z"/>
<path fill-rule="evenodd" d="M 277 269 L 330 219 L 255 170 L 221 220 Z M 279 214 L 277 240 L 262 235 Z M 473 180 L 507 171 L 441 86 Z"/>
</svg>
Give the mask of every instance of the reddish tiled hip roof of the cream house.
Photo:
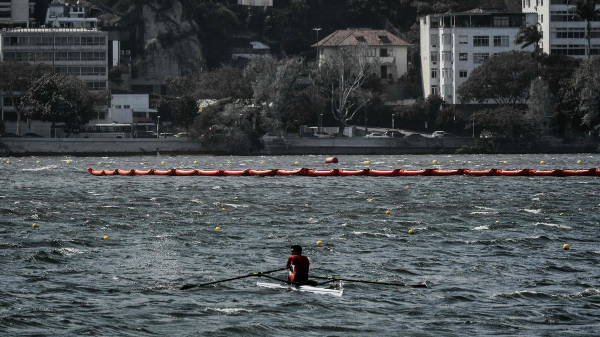
<svg viewBox="0 0 600 337">
<path fill-rule="evenodd" d="M 367 44 L 367 46 L 411 46 L 410 43 L 383 29 L 342 29 L 333 32 L 328 37 L 313 44 L 312 47 L 317 47 L 317 45 L 319 47 L 358 46 L 359 44 Z"/>
</svg>

